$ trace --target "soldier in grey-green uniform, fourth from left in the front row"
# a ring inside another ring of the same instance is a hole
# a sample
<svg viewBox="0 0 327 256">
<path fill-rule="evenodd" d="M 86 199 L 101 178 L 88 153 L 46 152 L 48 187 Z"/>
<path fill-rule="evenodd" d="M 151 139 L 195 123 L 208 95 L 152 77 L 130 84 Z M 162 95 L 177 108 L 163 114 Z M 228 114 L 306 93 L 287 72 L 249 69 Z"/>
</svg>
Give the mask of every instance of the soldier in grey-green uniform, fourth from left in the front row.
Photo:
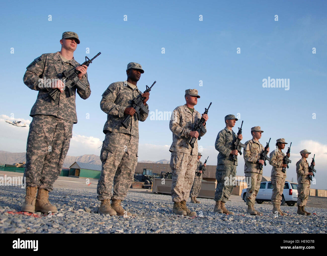
<svg viewBox="0 0 327 256">
<path fill-rule="evenodd" d="M 239 138 L 240 140 L 243 138 L 242 134 L 236 136 L 235 132 L 232 130 L 237 120 L 238 119 L 234 115 L 226 115 L 226 127 L 218 133 L 215 141 L 215 148 L 219 151 L 216 168 L 216 204 L 214 208 L 214 212 L 217 213 L 234 214 L 233 212 L 228 211 L 225 207 L 225 203 L 231 196 L 234 187 L 232 184 L 225 185 L 225 177 L 229 177 L 230 175 L 235 177 L 236 175 L 237 159 L 234 161 L 233 156 L 237 156 L 238 151 L 233 149 L 233 145 L 236 138 Z"/>
</svg>

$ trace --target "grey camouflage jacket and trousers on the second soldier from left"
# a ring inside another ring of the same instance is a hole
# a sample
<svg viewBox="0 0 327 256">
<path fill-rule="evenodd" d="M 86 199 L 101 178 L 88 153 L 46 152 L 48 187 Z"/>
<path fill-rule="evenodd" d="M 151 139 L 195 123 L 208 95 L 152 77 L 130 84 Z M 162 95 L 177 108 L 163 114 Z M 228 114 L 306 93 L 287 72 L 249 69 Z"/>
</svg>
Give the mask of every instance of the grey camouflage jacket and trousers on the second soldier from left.
<svg viewBox="0 0 327 256">
<path fill-rule="evenodd" d="M 102 94 L 100 107 L 108 116 L 103 128 L 106 136 L 100 154 L 99 200 L 124 200 L 133 181 L 138 157 L 139 122 L 136 113 L 129 119 L 127 128 L 121 122 L 126 117 L 125 109 L 132 106 L 132 99 L 139 94 L 142 92 L 137 86 L 127 81 L 112 83 Z M 139 121 L 145 121 L 147 116 L 141 114 Z"/>
</svg>

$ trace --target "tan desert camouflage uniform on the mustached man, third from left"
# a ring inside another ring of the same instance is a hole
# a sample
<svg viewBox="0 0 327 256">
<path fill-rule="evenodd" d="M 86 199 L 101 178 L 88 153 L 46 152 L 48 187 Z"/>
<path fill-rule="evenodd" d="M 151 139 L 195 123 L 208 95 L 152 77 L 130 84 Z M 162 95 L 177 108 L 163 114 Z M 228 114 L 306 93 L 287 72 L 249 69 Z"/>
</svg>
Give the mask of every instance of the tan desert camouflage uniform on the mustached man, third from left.
<svg viewBox="0 0 327 256">
<path fill-rule="evenodd" d="M 198 140 L 194 148 L 189 145 L 192 137 L 190 132 L 201 114 L 194 109 L 193 114 L 186 104 L 174 109 L 169 128 L 173 132 L 173 143 L 170 146 L 171 152 L 170 168 L 172 170 L 171 197 L 174 202 L 187 201 L 194 180 L 194 170 L 197 168 Z M 206 131 L 206 125 L 204 130 Z M 205 132 L 200 132 L 203 136 Z"/>
</svg>

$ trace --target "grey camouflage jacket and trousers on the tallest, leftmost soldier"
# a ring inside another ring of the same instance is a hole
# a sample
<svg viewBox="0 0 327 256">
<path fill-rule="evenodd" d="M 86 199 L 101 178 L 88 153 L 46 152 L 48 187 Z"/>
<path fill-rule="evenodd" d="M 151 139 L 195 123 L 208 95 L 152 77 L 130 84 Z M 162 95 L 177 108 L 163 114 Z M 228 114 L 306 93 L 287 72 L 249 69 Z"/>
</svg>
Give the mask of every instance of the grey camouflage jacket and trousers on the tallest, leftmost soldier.
<svg viewBox="0 0 327 256">
<path fill-rule="evenodd" d="M 26 146 L 26 187 L 51 191 L 52 184 L 61 173 L 73 123 L 77 123 L 76 87 L 73 88 L 73 96 L 69 97 L 68 92 L 64 91 L 60 93 L 59 100 L 53 101 L 46 88 L 42 87 L 42 82 L 45 85 L 44 78 L 60 78 L 61 72 L 77 66 L 80 64 L 74 58 L 64 62 L 59 52 L 56 52 L 41 55 L 26 68 L 24 83 L 30 89 L 39 91 L 30 112 L 33 120 Z M 91 94 L 87 74 L 80 81 L 86 85 L 86 90 L 77 89 L 77 93 L 82 99 L 87 99 Z"/>
</svg>

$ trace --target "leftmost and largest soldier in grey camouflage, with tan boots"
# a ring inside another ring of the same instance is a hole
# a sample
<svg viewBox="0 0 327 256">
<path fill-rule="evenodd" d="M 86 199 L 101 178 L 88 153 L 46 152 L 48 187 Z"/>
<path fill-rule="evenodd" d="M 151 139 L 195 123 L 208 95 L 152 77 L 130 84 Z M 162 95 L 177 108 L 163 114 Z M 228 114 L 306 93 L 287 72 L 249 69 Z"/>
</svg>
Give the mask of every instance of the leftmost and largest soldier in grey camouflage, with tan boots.
<svg viewBox="0 0 327 256">
<path fill-rule="evenodd" d="M 78 35 L 64 32 L 60 44 L 60 52 L 42 54 L 28 65 L 24 75 L 24 83 L 39 93 L 30 113 L 33 120 L 29 126 L 26 146 L 26 196 L 21 208 L 23 212 L 57 212 L 57 208 L 49 202 L 49 192 L 53 190 L 53 183 L 61 173 L 73 124 L 77 123 L 76 87 L 73 88 L 73 95 L 69 96 L 64 90 L 63 80 L 59 79 L 61 73 L 76 68 L 80 72 L 79 81 L 86 86 L 85 91 L 77 89 L 78 95 L 87 99 L 91 94 L 87 66 L 81 66 L 74 59 L 74 51 L 79 44 Z M 52 89 L 60 92 L 59 99 L 55 101 L 48 95 Z"/>
</svg>

